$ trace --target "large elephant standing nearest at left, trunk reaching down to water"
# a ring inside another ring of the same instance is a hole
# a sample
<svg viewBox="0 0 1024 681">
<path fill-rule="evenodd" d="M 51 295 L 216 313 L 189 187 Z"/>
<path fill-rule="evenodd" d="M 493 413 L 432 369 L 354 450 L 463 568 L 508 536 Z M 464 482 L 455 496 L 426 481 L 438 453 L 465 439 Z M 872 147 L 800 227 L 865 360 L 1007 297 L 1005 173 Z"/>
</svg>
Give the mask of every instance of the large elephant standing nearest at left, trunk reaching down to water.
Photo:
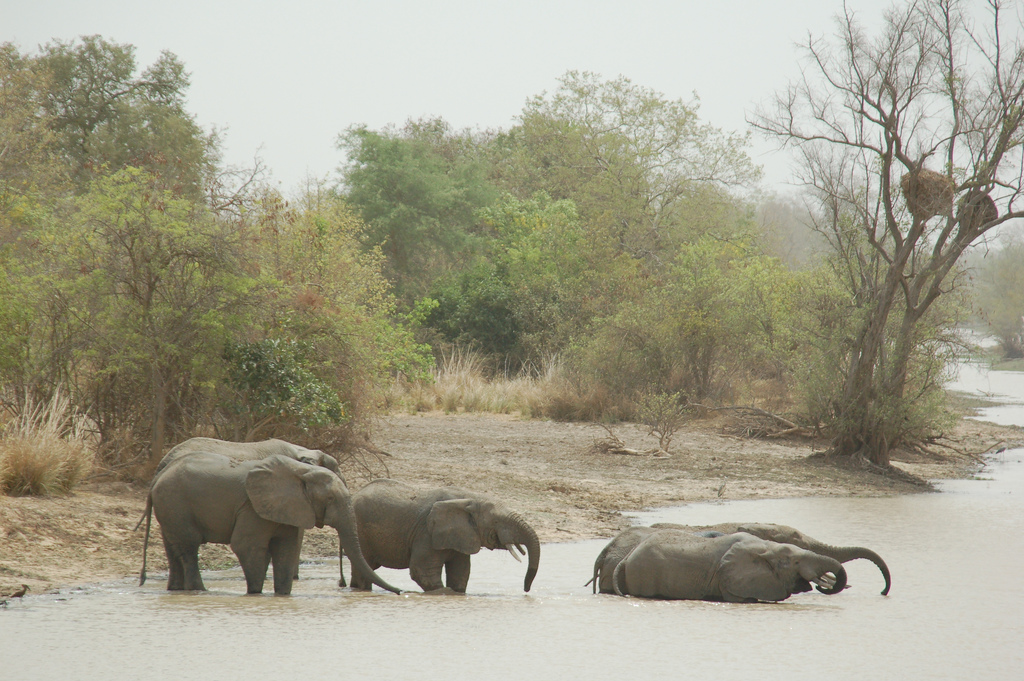
<svg viewBox="0 0 1024 681">
<path fill-rule="evenodd" d="M 262 593 L 272 562 L 273 591 L 288 595 L 299 559 L 299 530 L 329 525 L 338 531 L 354 574 L 400 593 L 367 564 L 351 495 L 340 477 L 321 466 L 280 454 L 238 461 L 214 452 L 190 452 L 157 477 L 147 506 L 164 537 L 168 590 L 205 590 L 199 547 L 212 543 L 231 547 L 245 573 L 247 593 Z M 145 529 L 147 545 L 148 521 Z M 143 579 L 144 574 L 143 557 Z"/>
</svg>

